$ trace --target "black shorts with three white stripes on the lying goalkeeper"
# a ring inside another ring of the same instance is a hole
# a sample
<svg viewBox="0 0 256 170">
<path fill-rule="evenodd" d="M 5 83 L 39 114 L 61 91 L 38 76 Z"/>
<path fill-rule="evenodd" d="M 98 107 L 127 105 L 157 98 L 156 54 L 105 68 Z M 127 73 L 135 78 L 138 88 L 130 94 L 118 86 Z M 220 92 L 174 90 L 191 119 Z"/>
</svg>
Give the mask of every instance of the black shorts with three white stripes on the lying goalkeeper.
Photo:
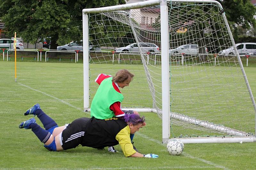
<svg viewBox="0 0 256 170">
<path fill-rule="evenodd" d="M 60 134 L 60 144 L 64 150 L 77 147 L 81 144 L 84 137 L 86 123 L 90 120 L 88 117 L 82 117 L 74 120 Z"/>
</svg>

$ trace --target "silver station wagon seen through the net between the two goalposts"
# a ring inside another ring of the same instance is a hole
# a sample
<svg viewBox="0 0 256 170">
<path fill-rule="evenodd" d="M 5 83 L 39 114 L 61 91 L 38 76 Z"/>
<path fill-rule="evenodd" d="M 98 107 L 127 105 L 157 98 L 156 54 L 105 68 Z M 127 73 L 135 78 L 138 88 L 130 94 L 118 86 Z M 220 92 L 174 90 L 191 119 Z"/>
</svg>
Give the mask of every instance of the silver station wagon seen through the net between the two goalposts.
<svg viewBox="0 0 256 170">
<path fill-rule="evenodd" d="M 159 52 L 159 47 L 156 44 L 153 43 L 139 43 L 140 48 L 142 49 L 142 52 L 150 52 L 150 53 L 154 53 L 154 52 Z M 121 53 L 121 52 L 139 52 L 139 48 L 137 43 L 133 43 L 130 44 L 126 47 L 120 47 L 120 48 L 116 48 L 115 52 L 116 53 Z"/>
</svg>

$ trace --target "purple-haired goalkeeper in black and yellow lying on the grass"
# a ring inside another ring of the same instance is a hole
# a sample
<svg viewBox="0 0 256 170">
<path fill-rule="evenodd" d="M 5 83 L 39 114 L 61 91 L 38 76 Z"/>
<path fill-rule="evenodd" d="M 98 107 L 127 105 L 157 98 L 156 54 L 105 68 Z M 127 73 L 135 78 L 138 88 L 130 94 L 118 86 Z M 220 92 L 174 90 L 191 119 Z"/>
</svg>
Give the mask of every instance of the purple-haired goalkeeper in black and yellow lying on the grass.
<svg viewBox="0 0 256 170">
<path fill-rule="evenodd" d="M 92 148 L 120 144 L 125 157 L 158 158 L 155 154 L 140 154 L 132 147 L 130 133 L 139 131 L 145 121 L 144 117 L 137 114 L 127 114 L 124 119 L 107 120 L 83 117 L 60 127 L 43 112 L 39 104 L 29 108 L 24 115 L 37 115 L 45 129 L 36 123 L 34 117 L 21 122 L 19 128 L 31 129 L 49 151 L 76 148 L 79 144 Z"/>
</svg>

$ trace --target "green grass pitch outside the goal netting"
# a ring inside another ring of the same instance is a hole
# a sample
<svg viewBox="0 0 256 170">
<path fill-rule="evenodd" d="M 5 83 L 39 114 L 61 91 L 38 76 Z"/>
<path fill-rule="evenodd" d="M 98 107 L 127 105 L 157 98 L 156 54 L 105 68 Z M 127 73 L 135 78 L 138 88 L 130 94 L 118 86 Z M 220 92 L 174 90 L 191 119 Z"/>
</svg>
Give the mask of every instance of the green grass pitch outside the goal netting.
<svg viewBox="0 0 256 170">
<path fill-rule="evenodd" d="M 256 67 L 245 67 L 254 95 L 255 71 Z M 147 126 L 135 134 L 134 145 L 143 154 L 158 154 L 158 159 L 125 158 L 119 146 L 115 147 L 119 153 L 81 146 L 49 152 L 31 130 L 19 129 L 20 122 L 31 118 L 23 113 L 40 103 L 59 125 L 89 117 L 83 112 L 83 65 L 18 62 L 17 83 L 14 62 L 0 62 L 0 72 L 0 170 L 255 169 L 255 143 L 185 144 L 180 156 L 169 155 L 161 142 L 162 121 L 154 113 L 141 113 Z M 42 125 L 38 118 L 36 121 Z"/>
</svg>

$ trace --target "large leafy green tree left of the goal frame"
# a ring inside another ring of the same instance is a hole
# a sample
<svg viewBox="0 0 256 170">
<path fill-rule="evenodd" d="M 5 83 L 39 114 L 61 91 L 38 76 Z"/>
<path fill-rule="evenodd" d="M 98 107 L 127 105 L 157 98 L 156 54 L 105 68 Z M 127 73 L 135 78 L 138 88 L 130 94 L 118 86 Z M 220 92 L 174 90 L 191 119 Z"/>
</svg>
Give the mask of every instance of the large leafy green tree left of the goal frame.
<svg viewBox="0 0 256 170">
<path fill-rule="evenodd" d="M 124 0 L 0 0 L 7 35 L 25 42 L 51 37 L 51 49 L 82 40 L 82 10 L 125 4 Z"/>
</svg>

